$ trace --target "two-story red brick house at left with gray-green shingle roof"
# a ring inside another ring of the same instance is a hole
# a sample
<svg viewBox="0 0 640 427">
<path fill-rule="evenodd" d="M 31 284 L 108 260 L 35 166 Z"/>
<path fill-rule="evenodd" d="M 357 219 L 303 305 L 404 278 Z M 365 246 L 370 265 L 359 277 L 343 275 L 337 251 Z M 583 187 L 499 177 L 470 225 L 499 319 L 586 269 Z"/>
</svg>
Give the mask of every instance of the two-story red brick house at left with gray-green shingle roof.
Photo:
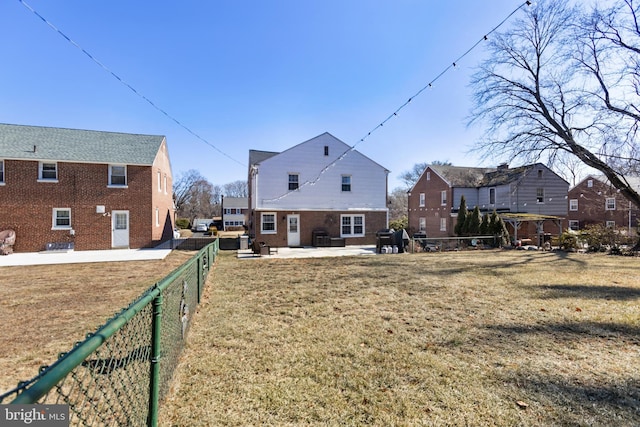
<svg viewBox="0 0 640 427">
<path fill-rule="evenodd" d="M 169 240 L 171 186 L 164 136 L 0 124 L 0 230 L 16 252 Z"/>
</svg>

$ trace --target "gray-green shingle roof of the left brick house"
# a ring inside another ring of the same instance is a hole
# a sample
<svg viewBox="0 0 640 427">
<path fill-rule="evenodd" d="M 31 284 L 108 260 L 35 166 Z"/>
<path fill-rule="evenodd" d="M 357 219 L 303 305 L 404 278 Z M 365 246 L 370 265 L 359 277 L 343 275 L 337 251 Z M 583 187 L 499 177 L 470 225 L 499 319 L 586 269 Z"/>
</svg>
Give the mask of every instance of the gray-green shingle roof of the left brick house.
<svg viewBox="0 0 640 427">
<path fill-rule="evenodd" d="M 161 135 L 0 123 L 0 158 L 152 165 L 164 139 Z"/>
</svg>

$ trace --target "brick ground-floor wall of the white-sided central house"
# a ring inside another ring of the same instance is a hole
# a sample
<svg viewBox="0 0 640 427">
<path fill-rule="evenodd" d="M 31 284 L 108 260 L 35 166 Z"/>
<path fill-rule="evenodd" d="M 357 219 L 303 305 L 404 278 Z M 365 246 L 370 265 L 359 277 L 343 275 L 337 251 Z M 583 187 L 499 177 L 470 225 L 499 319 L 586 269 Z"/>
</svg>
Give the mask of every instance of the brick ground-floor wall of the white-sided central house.
<svg viewBox="0 0 640 427">
<path fill-rule="evenodd" d="M 274 211 L 270 211 L 274 212 Z M 276 234 L 260 234 L 260 212 L 254 212 L 253 222 L 255 224 L 255 239 L 265 242 L 271 246 L 287 246 L 287 215 L 300 215 L 300 245 L 311 246 L 313 241 L 313 230 L 322 228 L 329 233 L 330 237 L 340 237 L 340 215 L 365 215 L 365 236 L 349 237 L 345 239 L 346 245 L 375 245 L 376 232 L 387 227 L 386 212 L 365 212 L 365 211 L 284 211 L 276 214 Z"/>
</svg>

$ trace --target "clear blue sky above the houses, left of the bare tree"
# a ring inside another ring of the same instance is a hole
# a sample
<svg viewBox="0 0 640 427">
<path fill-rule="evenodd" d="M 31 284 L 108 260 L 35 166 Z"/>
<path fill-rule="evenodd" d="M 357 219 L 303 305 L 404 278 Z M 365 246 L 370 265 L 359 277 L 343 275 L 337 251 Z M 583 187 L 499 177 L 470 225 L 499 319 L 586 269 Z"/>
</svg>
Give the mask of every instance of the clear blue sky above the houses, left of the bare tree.
<svg viewBox="0 0 640 427">
<path fill-rule="evenodd" d="M 196 169 L 218 185 L 246 179 L 249 149 L 329 132 L 389 169 L 390 189 L 418 162 L 480 165 L 468 150 L 482 128 L 466 117 L 484 43 L 359 141 L 524 3 L 25 2 L 171 118 L 4 0 L 0 122 L 165 135 L 174 177 Z"/>
</svg>

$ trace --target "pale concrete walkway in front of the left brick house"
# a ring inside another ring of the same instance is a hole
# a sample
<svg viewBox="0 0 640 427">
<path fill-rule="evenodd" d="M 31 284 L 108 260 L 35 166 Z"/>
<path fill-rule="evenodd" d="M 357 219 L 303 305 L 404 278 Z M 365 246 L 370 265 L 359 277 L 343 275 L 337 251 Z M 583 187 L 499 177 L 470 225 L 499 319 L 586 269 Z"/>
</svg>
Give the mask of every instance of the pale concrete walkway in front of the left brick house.
<svg viewBox="0 0 640 427">
<path fill-rule="evenodd" d="M 0 256 L 0 268 L 18 265 L 84 262 L 145 261 L 164 259 L 171 249 L 110 249 L 104 251 L 19 252 Z"/>
</svg>

